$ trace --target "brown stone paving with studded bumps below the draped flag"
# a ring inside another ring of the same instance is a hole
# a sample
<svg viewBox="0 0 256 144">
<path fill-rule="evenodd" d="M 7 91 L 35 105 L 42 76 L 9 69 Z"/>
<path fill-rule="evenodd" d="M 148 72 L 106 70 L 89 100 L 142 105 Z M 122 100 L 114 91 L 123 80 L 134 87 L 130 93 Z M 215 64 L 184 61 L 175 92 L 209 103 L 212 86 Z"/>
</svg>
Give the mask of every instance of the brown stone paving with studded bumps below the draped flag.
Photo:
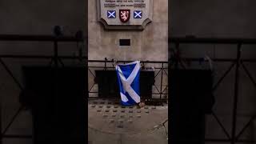
<svg viewBox="0 0 256 144">
<path fill-rule="evenodd" d="M 121 106 L 108 100 L 88 102 L 90 144 L 166 144 L 168 106 Z"/>
</svg>

